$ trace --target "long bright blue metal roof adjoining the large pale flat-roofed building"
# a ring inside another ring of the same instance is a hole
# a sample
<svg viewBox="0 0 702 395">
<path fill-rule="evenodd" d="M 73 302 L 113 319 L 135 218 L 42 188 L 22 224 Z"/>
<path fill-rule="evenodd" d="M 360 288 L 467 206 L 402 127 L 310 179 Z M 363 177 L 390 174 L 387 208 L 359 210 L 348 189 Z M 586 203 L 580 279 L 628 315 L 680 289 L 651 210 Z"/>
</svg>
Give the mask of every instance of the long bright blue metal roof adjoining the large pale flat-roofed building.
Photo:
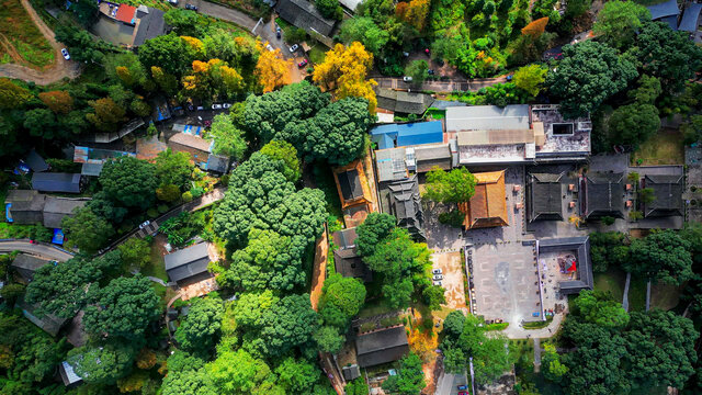
<svg viewBox="0 0 702 395">
<path fill-rule="evenodd" d="M 378 149 L 443 143 L 443 127 L 441 121 L 381 125 L 371 129 L 371 139 Z"/>
</svg>

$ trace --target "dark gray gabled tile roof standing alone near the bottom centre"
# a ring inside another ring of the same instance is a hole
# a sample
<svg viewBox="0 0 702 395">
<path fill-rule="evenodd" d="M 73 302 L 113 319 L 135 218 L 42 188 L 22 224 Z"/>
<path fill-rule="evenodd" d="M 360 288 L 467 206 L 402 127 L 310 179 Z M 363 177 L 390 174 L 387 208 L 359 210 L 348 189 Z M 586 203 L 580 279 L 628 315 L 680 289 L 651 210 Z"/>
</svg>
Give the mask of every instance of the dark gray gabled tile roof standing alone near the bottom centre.
<svg viewBox="0 0 702 395">
<path fill-rule="evenodd" d="M 355 340 L 356 360 L 361 368 L 397 361 L 409 353 L 404 326 L 361 335 Z"/>
</svg>

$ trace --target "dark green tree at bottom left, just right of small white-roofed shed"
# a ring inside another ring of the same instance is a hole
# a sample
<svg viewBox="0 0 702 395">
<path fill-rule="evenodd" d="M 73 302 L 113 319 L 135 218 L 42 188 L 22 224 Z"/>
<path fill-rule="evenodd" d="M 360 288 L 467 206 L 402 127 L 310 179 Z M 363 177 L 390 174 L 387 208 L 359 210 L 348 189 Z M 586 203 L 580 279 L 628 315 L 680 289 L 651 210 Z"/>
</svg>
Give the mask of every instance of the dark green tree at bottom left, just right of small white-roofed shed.
<svg viewBox="0 0 702 395">
<path fill-rule="evenodd" d="M 107 343 L 72 349 L 67 361 L 86 383 L 114 384 L 131 373 L 135 356 L 129 346 Z"/>
</svg>

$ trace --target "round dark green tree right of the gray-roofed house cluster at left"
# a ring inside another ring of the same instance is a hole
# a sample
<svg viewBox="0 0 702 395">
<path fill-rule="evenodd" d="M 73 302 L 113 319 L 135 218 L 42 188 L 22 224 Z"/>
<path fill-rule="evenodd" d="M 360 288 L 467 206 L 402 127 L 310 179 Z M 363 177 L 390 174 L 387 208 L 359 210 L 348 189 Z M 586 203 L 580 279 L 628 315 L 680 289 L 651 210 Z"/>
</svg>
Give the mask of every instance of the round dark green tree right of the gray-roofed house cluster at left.
<svg viewBox="0 0 702 395">
<path fill-rule="evenodd" d="M 129 156 L 111 159 L 102 168 L 100 184 L 113 202 L 147 210 L 156 200 L 156 166 Z"/>
</svg>

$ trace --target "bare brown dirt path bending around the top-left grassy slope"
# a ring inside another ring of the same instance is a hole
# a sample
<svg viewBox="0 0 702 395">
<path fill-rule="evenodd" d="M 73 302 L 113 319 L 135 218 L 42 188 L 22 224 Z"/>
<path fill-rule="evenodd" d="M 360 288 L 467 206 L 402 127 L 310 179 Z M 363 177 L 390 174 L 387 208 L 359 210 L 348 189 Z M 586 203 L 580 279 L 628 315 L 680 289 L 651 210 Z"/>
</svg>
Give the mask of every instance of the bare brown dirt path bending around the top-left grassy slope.
<svg viewBox="0 0 702 395">
<path fill-rule="evenodd" d="M 46 25 L 46 23 L 44 23 L 44 21 L 42 21 L 42 18 L 39 18 L 36 11 L 34 11 L 29 0 L 20 1 L 44 37 L 46 37 L 49 44 L 52 44 L 55 52 L 55 63 L 43 71 L 14 64 L 0 65 L 0 77 L 16 78 L 25 81 L 32 81 L 37 84 L 49 84 L 60 81 L 66 77 L 71 79 L 78 77 L 78 75 L 80 75 L 79 65 L 76 61 L 64 59 L 64 56 L 60 53 L 65 45 L 56 42 L 54 32 Z"/>
</svg>

